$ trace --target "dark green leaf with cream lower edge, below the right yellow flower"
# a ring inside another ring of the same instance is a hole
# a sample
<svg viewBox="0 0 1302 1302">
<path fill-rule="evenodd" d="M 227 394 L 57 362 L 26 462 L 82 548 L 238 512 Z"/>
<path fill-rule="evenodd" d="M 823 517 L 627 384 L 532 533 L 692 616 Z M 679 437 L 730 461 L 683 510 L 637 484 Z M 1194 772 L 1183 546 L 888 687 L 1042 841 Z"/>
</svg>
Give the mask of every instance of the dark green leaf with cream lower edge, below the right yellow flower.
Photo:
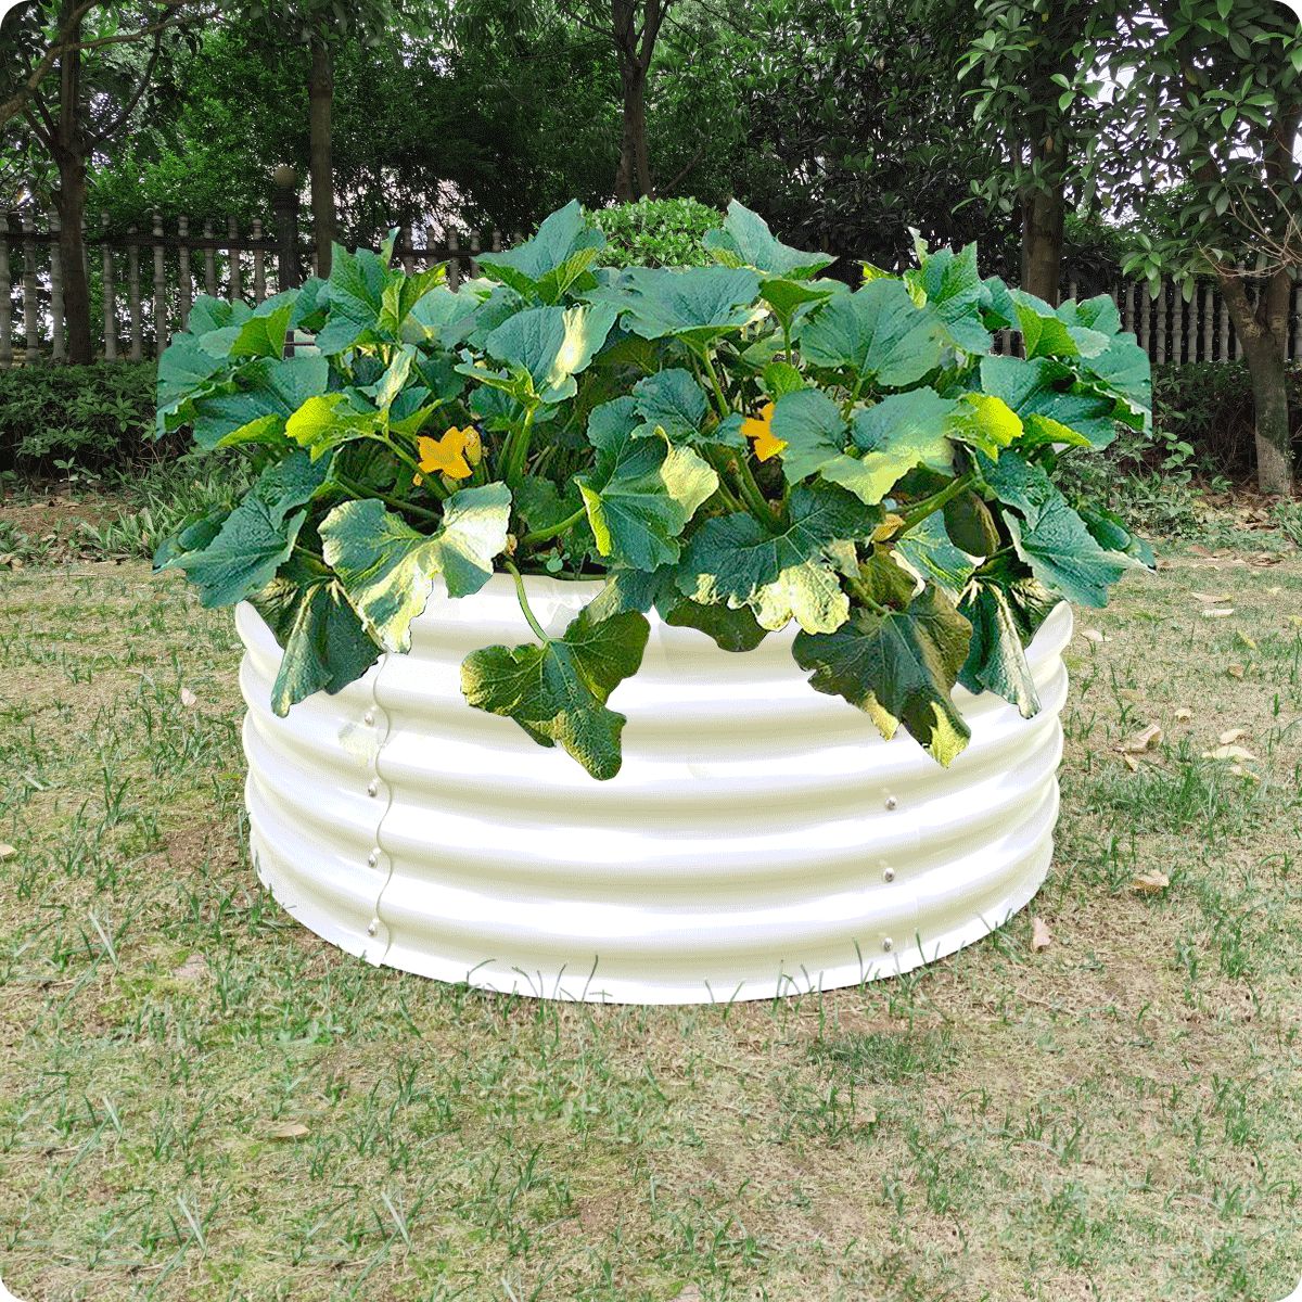
<svg viewBox="0 0 1302 1302">
<path fill-rule="evenodd" d="M 799 484 L 792 490 L 790 523 L 768 533 L 754 516 L 713 516 L 691 536 L 680 562 L 678 590 L 710 605 L 749 605 L 769 631 L 793 618 L 811 633 L 829 633 L 849 615 L 849 599 L 828 546 L 872 533 L 881 519 L 842 488 Z"/>
</svg>

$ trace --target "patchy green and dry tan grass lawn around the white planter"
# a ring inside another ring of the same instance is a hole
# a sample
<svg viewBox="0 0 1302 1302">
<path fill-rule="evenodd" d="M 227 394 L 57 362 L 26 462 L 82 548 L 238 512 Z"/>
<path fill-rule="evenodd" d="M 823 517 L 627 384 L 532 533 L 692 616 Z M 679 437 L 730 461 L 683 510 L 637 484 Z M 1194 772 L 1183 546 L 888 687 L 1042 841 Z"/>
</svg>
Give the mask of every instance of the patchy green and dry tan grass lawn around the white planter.
<svg viewBox="0 0 1302 1302">
<path fill-rule="evenodd" d="M 247 858 L 230 612 L 33 522 L 62 508 L 0 508 L 0 1279 L 1285 1298 L 1302 559 L 1253 509 L 1074 612 L 1057 849 L 1003 931 L 863 990 L 641 1008 L 436 984 L 294 924 Z"/>
</svg>

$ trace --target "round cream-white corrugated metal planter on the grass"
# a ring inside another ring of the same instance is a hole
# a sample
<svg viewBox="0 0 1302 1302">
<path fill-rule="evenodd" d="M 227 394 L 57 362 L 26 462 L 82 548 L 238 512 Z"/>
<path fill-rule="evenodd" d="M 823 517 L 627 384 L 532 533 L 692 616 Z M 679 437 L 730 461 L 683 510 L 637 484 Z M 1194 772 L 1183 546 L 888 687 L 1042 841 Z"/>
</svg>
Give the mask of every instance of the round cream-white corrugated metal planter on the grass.
<svg viewBox="0 0 1302 1302">
<path fill-rule="evenodd" d="M 549 633 L 602 587 L 526 579 Z M 466 704 L 465 656 L 533 638 L 509 575 L 431 590 L 411 651 L 286 719 L 280 648 L 247 603 L 243 742 L 259 876 L 372 963 L 486 990 L 616 1003 L 771 999 L 897 975 L 1035 894 L 1057 819 L 1060 605 L 1027 648 L 1040 711 L 954 689 L 948 769 L 904 728 L 814 691 L 797 626 L 721 651 L 654 618 L 609 783 Z"/>
</svg>

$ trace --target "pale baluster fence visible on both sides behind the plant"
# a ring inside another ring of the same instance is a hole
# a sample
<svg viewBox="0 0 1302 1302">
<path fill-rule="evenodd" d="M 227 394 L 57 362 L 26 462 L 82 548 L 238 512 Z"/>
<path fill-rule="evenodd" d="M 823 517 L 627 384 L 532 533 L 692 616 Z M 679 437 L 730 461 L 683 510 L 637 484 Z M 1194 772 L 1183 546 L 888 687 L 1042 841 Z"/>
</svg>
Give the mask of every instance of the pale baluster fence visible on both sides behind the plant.
<svg viewBox="0 0 1302 1302">
<path fill-rule="evenodd" d="M 315 249 L 299 242 L 293 214 L 288 227 L 271 236 L 258 219 L 247 233 L 242 233 L 230 217 L 221 234 L 216 233 L 217 223 L 211 217 L 203 219 L 202 233 L 191 232 L 185 216 L 177 219 L 174 233 L 164 230 L 158 214 L 150 232 L 129 227 L 125 233 L 109 234 L 108 221 L 108 214 L 103 214 L 98 233 L 91 234 L 85 225 L 82 229 L 87 285 L 92 279 L 91 267 L 98 272 L 103 316 L 98 355 L 105 361 L 126 357 L 138 362 L 146 352 L 158 357 L 172 333 L 186 328 L 197 293 L 256 305 L 281 288 L 299 284 L 303 266 L 316 272 Z M 426 227 L 424 245 L 417 246 L 413 228 L 405 225 L 400 229 L 393 256 L 408 272 L 414 271 L 417 263 L 423 267 L 447 263 L 448 284 L 457 289 L 465 272 L 479 275 L 480 240 L 478 232 L 461 237 L 449 230 L 440 242 L 434 228 Z M 519 240 L 517 233 L 513 242 Z M 503 247 L 497 230 L 487 236 L 487 241 L 492 251 Z M 98 249 L 94 263 L 92 247 Z M 358 247 L 379 251 L 367 245 Z M 142 251 L 152 254 L 147 289 Z M 1220 289 L 1211 281 L 1197 281 L 1187 303 L 1181 286 L 1169 280 L 1163 281 L 1156 298 L 1150 297 L 1142 281 L 1113 285 L 1108 293 L 1117 306 L 1122 329 L 1134 333 L 1155 365 L 1224 362 L 1232 357 L 1238 361 L 1243 355 Z M 1075 284 L 1070 285 L 1069 297 L 1077 297 Z M 1302 357 L 1299 315 L 1302 285 L 1294 285 L 1286 353 L 1290 361 Z M 14 326 L 18 322 L 22 342 L 16 348 Z M 65 332 L 57 216 L 51 214 L 42 230 L 30 208 L 0 214 L 0 370 L 64 361 L 68 355 Z M 1012 354 L 1018 348 L 1016 331 L 996 333 L 996 353 Z"/>
</svg>

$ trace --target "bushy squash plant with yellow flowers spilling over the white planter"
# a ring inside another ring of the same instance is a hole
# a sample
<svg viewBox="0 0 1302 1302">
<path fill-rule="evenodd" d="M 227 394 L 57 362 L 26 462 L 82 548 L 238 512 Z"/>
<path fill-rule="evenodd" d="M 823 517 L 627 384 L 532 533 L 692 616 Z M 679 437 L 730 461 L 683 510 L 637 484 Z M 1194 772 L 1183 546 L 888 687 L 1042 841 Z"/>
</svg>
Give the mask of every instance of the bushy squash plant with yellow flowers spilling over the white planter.
<svg viewBox="0 0 1302 1302">
<path fill-rule="evenodd" d="M 1111 299 L 1055 311 L 982 280 L 975 246 L 921 241 L 917 270 L 850 292 L 738 203 L 711 267 L 596 268 L 603 243 L 570 203 L 457 293 L 443 267 L 389 270 L 391 234 L 255 310 L 195 302 L 156 434 L 243 445 L 256 479 L 154 566 L 258 608 L 284 648 L 276 713 L 406 651 L 435 579 L 460 598 L 495 568 L 538 641 L 469 655 L 466 700 L 602 780 L 652 608 L 729 651 L 797 621 L 816 690 L 945 766 L 970 737 L 956 682 L 1034 713 L 1023 647 L 1049 611 L 1152 565 L 1048 474 L 1055 447 L 1151 427 Z M 991 354 L 1003 327 L 1025 359 Z M 284 357 L 290 328 L 316 352 Z M 605 586 L 548 637 L 523 574 Z"/>
</svg>

